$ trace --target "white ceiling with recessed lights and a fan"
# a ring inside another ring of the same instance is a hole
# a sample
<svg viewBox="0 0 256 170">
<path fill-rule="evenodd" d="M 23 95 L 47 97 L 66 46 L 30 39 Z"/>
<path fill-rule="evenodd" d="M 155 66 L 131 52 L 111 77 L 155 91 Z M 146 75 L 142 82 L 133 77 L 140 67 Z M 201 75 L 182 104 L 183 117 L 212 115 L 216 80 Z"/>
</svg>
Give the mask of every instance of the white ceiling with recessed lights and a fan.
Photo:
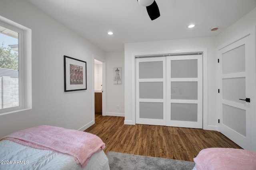
<svg viewBox="0 0 256 170">
<path fill-rule="evenodd" d="M 151 21 L 137 0 L 28 1 L 104 51 L 123 51 L 125 43 L 216 36 L 256 7 L 256 0 L 156 0 L 161 16 Z M 196 27 L 188 29 L 190 23 Z"/>
</svg>

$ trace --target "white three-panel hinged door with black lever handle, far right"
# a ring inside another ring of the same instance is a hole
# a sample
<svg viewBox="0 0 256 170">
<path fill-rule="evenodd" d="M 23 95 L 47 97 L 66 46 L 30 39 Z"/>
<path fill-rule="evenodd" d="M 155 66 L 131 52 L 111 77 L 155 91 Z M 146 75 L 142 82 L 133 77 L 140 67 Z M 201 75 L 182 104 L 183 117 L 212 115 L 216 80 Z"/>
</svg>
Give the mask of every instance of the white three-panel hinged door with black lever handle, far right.
<svg viewBox="0 0 256 170">
<path fill-rule="evenodd" d="M 250 36 L 218 51 L 219 112 L 218 131 L 244 149 L 251 149 L 251 77 L 253 47 Z M 254 47 L 255 48 L 255 47 Z M 251 56 L 250 56 L 251 55 Z M 253 64 L 255 67 L 255 63 Z M 255 73 L 254 73 L 255 75 Z"/>
</svg>

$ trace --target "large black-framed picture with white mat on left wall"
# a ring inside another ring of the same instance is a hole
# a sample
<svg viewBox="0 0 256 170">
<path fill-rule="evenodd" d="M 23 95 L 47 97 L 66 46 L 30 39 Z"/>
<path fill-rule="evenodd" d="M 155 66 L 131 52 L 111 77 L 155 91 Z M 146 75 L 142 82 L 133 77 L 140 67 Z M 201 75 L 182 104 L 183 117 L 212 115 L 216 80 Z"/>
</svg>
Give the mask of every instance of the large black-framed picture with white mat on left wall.
<svg viewBox="0 0 256 170">
<path fill-rule="evenodd" d="M 64 55 L 64 92 L 86 89 L 86 62 Z"/>
</svg>

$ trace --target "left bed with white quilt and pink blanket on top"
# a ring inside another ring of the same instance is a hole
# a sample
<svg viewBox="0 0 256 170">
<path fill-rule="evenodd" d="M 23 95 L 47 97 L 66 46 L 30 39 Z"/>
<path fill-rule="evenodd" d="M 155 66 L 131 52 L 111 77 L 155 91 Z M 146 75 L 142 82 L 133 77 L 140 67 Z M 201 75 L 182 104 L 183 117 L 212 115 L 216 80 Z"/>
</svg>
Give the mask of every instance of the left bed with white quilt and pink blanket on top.
<svg viewBox="0 0 256 170">
<path fill-rule="evenodd" d="M 91 133 L 41 125 L 0 139 L 0 170 L 110 170 L 104 148 Z"/>
</svg>

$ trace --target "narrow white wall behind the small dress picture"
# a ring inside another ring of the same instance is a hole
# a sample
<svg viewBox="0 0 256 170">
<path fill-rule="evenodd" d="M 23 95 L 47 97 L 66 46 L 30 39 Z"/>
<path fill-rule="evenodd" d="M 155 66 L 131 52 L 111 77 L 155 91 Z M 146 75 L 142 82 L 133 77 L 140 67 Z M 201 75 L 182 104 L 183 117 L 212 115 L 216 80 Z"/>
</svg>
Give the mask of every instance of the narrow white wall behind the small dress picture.
<svg viewBox="0 0 256 170">
<path fill-rule="evenodd" d="M 114 67 L 122 67 L 122 84 L 113 84 Z M 124 51 L 106 53 L 106 115 L 124 116 L 124 78 Z"/>
</svg>

